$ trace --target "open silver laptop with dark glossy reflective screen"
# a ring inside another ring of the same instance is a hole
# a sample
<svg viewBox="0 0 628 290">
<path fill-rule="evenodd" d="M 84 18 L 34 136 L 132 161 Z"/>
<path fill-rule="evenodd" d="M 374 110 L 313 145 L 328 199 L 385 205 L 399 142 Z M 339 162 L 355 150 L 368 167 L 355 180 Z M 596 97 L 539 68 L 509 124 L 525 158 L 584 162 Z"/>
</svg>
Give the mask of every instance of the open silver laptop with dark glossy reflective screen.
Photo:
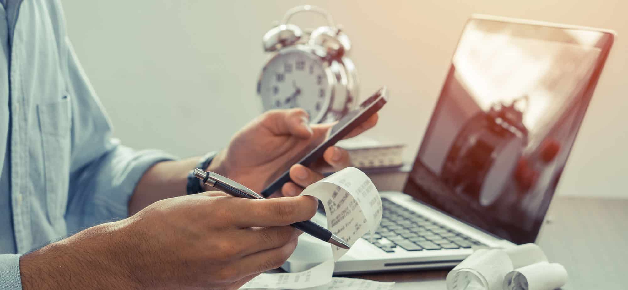
<svg viewBox="0 0 628 290">
<path fill-rule="evenodd" d="M 534 242 L 613 40 L 607 30 L 472 16 L 403 192 L 381 193 L 373 242 L 357 240 L 334 273 L 450 268 L 475 247 Z M 283 269 L 304 271 L 328 253 L 301 235 Z"/>
</svg>

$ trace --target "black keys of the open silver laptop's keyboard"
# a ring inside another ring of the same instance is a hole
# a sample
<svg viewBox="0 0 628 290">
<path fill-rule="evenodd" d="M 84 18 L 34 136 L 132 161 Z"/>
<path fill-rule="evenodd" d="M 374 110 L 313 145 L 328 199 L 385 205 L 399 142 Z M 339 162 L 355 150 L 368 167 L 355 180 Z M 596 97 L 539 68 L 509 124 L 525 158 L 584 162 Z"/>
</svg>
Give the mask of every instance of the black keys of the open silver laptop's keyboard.
<svg viewBox="0 0 628 290">
<path fill-rule="evenodd" d="M 430 218 L 382 198 L 382 222 L 373 236 L 373 244 L 384 252 L 396 247 L 408 251 L 470 248 L 484 245 Z M 370 235 L 364 235 L 369 240 Z"/>
</svg>

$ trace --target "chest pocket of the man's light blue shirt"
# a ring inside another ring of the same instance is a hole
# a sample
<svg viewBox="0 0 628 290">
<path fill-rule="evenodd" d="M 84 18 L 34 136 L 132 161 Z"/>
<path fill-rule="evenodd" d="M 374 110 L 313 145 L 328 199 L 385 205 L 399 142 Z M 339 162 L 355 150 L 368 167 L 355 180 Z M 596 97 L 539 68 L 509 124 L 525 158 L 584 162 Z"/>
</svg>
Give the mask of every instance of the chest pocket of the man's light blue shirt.
<svg viewBox="0 0 628 290">
<path fill-rule="evenodd" d="M 70 181 L 70 97 L 37 105 L 45 175 L 48 218 L 59 222 L 65 215 Z"/>
</svg>

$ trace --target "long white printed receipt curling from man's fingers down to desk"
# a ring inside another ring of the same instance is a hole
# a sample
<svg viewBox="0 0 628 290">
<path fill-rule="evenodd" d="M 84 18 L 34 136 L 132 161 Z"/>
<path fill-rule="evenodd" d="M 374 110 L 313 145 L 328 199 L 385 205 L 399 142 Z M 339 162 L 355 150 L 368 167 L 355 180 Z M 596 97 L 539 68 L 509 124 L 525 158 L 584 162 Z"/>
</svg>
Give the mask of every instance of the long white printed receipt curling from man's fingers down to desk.
<svg viewBox="0 0 628 290">
<path fill-rule="evenodd" d="M 382 220 L 382 200 L 372 181 L 357 168 L 345 168 L 308 186 L 301 195 L 318 198 L 325 207 L 327 228 L 353 245 L 367 232 L 374 233 Z M 372 236 L 372 235 L 371 235 Z M 334 262 L 347 250 L 330 245 L 333 260 L 298 273 L 260 274 L 241 289 L 392 289 L 394 282 L 332 278 Z"/>
</svg>

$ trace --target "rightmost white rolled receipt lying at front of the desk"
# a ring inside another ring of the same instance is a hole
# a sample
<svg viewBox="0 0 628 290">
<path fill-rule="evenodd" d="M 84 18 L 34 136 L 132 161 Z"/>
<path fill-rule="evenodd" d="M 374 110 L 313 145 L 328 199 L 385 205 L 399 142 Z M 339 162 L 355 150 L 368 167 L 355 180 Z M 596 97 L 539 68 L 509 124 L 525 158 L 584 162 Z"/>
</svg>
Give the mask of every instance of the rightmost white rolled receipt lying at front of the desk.
<svg viewBox="0 0 628 290">
<path fill-rule="evenodd" d="M 567 282 L 567 271 L 561 264 L 538 262 L 506 274 L 504 290 L 554 290 Z"/>
</svg>

